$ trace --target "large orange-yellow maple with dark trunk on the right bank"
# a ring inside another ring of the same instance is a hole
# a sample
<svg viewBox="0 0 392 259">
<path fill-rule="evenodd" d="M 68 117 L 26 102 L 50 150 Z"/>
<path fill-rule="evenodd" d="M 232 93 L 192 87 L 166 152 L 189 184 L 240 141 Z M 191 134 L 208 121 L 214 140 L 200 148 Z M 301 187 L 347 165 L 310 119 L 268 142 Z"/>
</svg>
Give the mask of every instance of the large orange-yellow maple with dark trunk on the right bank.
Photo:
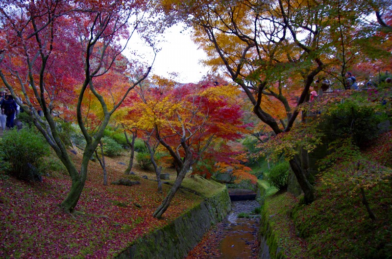
<svg viewBox="0 0 392 259">
<path fill-rule="evenodd" d="M 176 13 L 195 30 L 194 40 L 208 54 L 206 64 L 237 83 L 253 106 L 254 114 L 275 135 L 288 132 L 299 118 L 312 84 L 334 72 L 342 51 L 346 65 L 353 64 L 355 44 L 365 38 L 359 32 L 361 1 L 163 1 L 168 13 Z M 370 8 L 370 3 L 367 5 Z M 373 10 L 372 8 L 370 8 Z M 357 15 L 357 16 L 356 16 Z M 354 40 L 355 39 L 355 40 Z M 336 52 L 339 52 L 338 54 Z M 336 73 L 336 72 L 335 72 Z M 299 154 L 291 168 L 305 194 L 315 192 L 301 166 Z"/>
</svg>

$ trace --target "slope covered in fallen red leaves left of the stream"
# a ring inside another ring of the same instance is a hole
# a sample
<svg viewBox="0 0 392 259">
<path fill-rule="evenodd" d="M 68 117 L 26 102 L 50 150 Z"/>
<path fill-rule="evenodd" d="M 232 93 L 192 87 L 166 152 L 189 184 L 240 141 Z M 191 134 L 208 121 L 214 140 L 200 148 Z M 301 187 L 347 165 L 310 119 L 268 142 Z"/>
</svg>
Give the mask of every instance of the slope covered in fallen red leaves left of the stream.
<svg viewBox="0 0 392 259">
<path fill-rule="evenodd" d="M 178 191 L 172 205 L 157 220 L 152 213 L 164 193 L 157 193 L 157 184 L 140 179 L 132 187 L 110 185 L 123 177 L 128 157 L 106 158 L 108 186 L 102 184 L 102 170 L 90 162 L 88 180 L 76 213 L 66 214 L 58 205 L 70 188 L 67 175 L 44 177 L 42 183 L 27 183 L 1 175 L 0 177 L 0 258 L 86 258 L 103 259 L 113 256 L 146 233 L 167 224 L 191 208 L 201 197 Z M 80 155 L 74 156 L 80 163 Z M 134 169 L 136 175 L 152 172 Z M 172 178 L 174 175 L 172 176 Z"/>
</svg>

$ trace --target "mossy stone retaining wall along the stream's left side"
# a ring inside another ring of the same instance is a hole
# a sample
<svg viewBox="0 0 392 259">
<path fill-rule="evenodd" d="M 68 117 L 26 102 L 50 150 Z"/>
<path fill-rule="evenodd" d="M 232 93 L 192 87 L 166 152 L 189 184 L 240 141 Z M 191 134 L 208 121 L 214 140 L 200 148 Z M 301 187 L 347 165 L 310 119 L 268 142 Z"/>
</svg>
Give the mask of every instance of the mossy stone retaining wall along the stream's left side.
<svg viewBox="0 0 392 259">
<path fill-rule="evenodd" d="M 117 259 L 182 259 L 230 209 L 229 193 L 224 188 L 162 229 L 138 239 Z"/>
</svg>

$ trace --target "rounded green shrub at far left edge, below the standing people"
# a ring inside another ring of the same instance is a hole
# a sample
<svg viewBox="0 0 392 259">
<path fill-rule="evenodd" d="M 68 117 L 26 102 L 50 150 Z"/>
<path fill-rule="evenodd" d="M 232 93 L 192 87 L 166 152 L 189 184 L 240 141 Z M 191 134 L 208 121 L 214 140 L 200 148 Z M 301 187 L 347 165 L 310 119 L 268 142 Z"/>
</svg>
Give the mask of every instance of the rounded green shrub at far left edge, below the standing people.
<svg viewBox="0 0 392 259">
<path fill-rule="evenodd" d="M 22 180 L 39 180 L 40 173 L 35 167 L 38 160 L 49 153 L 49 144 L 34 128 L 6 131 L 0 141 L 3 169 Z"/>
</svg>

